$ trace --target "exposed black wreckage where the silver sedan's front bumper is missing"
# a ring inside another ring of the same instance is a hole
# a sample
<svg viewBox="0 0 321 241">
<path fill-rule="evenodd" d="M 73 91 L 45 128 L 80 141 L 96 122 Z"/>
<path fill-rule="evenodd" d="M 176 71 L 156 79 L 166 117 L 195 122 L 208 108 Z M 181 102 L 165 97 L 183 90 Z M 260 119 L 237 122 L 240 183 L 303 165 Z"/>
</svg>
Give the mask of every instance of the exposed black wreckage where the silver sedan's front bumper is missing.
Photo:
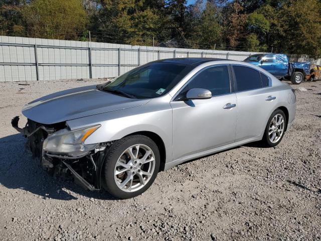
<svg viewBox="0 0 321 241">
<path fill-rule="evenodd" d="M 39 158 L 43 169 L 52 174 L 71 174 L 77 184 L 90 191 L 101 189 L 101 169 L 104 161 L 104 149 L 111 143 L 101 144 L 98 148 L 80 156 L 51 154 L 43 150 L 43 142 L 55 133 L 57 128 L 45 126 L 28 119 L 24 128 L 19 128 L 19 116 L 12 119 L 11 124 L 27 139 L 33 157 Z"/>
</svg>

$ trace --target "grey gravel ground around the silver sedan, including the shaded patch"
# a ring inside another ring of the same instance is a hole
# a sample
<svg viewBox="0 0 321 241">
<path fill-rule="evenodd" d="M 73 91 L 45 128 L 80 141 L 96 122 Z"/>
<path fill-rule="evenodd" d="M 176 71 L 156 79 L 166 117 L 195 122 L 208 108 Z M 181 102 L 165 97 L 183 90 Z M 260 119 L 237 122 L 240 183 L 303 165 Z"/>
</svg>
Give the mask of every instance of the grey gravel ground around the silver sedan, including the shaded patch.
<svg viewBox="0 0 321 241">
<path fill-rule="evenodd" d="M 1 240 L 321 239 L 321 81 L 292 85 L 307 91 L 296 90 L 296 121 L 276 148 L 179 165 L 127 200 L 49 176 L 10 125 L 37 97 L 101 82 L 0 83 Z"/>
</svg>

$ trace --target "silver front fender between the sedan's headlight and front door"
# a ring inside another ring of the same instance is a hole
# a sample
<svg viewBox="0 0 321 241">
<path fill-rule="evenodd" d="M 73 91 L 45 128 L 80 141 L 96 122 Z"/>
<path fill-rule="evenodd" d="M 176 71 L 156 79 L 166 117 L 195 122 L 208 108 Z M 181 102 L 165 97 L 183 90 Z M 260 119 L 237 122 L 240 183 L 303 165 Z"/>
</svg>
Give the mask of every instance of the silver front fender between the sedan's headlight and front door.
<svg viewBox="0 0 321 241">
<path fill-rule="evenodd" d="M 129 109 L 96 114 L 67 122 L 71 130 L 100 124 L 85 144 L 103 143 L 119 140 L 136 132 L 152 132 L 164 142 L 166 162 L 172 161 L 172 108 L 168 104 L 157 108 L 137 106 Z"/>
</svg>

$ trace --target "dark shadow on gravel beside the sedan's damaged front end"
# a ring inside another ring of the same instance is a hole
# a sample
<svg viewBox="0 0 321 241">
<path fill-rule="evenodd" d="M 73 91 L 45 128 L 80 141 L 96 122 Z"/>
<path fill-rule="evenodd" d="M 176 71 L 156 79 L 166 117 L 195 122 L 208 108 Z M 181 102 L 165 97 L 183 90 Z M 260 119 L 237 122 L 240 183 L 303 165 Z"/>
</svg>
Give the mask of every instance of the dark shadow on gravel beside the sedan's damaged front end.
<svg viewBox="0 0 321 241">
<path fill-rule="evenodd" d="M 0 138 L 0 185 L 9 189 L 23 189 L 44 199 L 73 200 L 82 195 L 115 200 L 105 191 L 90 192 L 73 181 L 49 175 L 41 168 L 39 161 L 32 158 L 25 143 L 26 139 L 21 134 Z"/>
</svg>

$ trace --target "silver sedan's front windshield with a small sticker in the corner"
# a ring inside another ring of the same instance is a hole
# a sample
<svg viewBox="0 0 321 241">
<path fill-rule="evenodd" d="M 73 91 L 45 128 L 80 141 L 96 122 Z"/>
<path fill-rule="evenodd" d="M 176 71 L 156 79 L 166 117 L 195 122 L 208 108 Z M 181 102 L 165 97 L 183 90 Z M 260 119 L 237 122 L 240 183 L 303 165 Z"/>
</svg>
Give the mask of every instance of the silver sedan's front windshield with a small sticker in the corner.
<svg viewBox="0 0 321 241">
<path fill-rule="evenodd" d="M 128 98 L 155 98 L 170 91 L 191 69 L 185 64 L 151 62 L 119 76 L 102 90 Z"/>
</svg>

